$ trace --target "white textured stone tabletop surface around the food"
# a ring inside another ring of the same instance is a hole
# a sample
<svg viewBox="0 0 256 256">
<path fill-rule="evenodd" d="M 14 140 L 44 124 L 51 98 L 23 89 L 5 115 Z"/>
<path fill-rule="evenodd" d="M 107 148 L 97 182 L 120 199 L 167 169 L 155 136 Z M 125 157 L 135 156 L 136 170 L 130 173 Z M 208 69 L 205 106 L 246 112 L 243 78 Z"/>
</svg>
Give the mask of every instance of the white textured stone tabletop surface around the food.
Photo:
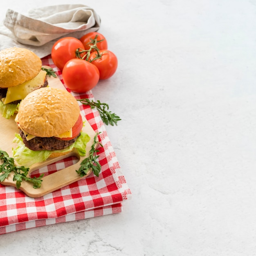
<svg viewBox="0 0 256 256">
<path fill-rule="evenodd" d="M 67 0 L 1 2 L 25 12 Z M 74 3 L 74 2 L 73 2 Z M 82 1 L 118 71 L 93 89 L 132 191 L 123 213 L 0 236 L 1 255 L 256 253 L 256 0 Z"/>
</svg>

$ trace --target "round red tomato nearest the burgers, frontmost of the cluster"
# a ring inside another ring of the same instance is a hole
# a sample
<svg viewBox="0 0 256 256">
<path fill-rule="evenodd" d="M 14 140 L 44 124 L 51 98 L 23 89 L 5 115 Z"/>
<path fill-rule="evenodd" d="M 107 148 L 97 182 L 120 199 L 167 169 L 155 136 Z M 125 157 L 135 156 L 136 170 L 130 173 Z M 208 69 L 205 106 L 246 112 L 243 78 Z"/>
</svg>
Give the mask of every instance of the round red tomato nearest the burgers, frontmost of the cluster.
<svg viewBox="0 0 256 256">
<path fill-rule="evenodd" d="M 74 58 L 63 67 L 62 77 L 73 92 L 88 92 L 99 82 L 99 70 L 89 61 Z"/>
</svg>

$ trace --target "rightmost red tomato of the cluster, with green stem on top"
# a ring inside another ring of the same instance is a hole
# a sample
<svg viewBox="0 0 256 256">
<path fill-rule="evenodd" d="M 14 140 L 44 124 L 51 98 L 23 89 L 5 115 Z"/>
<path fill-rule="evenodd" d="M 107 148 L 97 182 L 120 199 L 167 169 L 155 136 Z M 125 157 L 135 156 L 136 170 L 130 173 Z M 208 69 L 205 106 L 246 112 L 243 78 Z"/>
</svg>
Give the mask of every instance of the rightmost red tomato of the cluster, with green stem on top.
<svg viewBox="0 0 256 256">
<path fill-rule="evenodd" d="M 109 50 L 100 50 L 101 58 L 97 57 L 97 52 L 92 52 L 90 62 L 99 70 L 99 79 L 108 79 L 117 70 L 117 56 Z M 92 61 L 96 58 L 94 61 Z"/>
</svg>

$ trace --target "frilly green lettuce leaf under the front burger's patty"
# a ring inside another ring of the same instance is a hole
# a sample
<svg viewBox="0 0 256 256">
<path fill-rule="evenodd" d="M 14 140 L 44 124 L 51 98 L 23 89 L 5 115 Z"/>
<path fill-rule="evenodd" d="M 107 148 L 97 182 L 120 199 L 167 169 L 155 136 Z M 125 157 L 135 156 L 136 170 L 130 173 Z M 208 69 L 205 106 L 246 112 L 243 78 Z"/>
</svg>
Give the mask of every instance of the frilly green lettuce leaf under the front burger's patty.
<svg viewBox="0 0 256 256">
<path fill-rule="evenodd" d="M 12 153 L 13 158 L 20 166 L 30 167 L 33 164 L 44 162 L 53 152 L 67 152 L 76 148 L 79 155 L 84 156 L 86 154 L 85 147 L 88 141 L 90 141 L 90 136 L 85 132 L 81 132 L 81 135 L 76 139 L 76 141 L 63 150 L 34 151 L 27 148 L 20 135 L 16 133 L 13 142 L 18 144 L 18 146 L 17 148 L 12 148 Z"/>
</svg>

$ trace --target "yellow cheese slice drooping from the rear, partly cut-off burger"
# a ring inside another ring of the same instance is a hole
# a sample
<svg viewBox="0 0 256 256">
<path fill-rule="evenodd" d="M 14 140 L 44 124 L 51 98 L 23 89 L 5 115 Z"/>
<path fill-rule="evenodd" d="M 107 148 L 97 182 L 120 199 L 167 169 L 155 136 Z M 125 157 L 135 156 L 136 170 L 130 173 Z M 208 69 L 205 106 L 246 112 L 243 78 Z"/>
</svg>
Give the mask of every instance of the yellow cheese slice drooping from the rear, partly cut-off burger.
<svg viewBox="0 0 256 256">
<path fill-rule="evenodd" d="M 17 86 L 9 87 L 6 97 L 2 99 L 4 104 L 24 99 L 27 94 L 40 88 L 45 82 L 46 71 L 41 70 L 36 77 Z"/>
</svg>

